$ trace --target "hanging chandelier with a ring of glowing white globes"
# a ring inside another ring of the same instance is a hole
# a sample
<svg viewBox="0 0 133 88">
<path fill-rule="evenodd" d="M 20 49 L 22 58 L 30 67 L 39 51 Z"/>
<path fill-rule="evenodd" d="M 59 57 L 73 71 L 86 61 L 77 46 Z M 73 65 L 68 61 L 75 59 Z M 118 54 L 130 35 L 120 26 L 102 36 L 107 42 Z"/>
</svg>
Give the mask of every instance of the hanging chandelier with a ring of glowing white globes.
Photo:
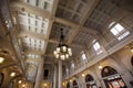
<svg viewBox="0 0 133 88">
<path fill-rule="evenodd" d="M 53 54 L 55 58 L 59 58 L 62 61 L 72 56 L 72 50 L 66 44 L 63 43 L 63 40 L 64 40 L 63 29 L 61 29 L 60 42 L 59 42 L 58 47 L 53 52 Z"/>
</svg>

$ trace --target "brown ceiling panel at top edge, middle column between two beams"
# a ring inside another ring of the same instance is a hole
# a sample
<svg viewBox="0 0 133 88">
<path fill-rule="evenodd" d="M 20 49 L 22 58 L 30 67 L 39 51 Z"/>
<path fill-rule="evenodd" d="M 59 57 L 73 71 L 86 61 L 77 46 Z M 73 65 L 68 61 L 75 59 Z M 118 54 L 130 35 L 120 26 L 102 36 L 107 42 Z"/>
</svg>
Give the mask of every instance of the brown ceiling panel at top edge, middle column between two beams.
<svg viewBox="0 0 133 88">
<path fill-rule="evenodd" d="M 59 0 L 57 16 L 79 23 L 90 0 Z"/>
</svg>

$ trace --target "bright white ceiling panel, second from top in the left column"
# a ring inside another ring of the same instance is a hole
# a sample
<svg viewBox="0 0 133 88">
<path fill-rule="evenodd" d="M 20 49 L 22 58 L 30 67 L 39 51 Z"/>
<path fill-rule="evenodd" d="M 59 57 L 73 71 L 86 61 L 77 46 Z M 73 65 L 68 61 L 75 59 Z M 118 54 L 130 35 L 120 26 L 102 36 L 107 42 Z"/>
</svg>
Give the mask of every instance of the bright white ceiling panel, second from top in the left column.
<svg viewBox="0 0 133 88">
<path fill-rule="evenodd" d="M 18 14 L 18 16 L 20 26 L 24 28 L 20 28 L 22 31 L 34 32 L 43 35 L 47 34 L 49 24 L 48 19 L 43 19 L 42 16 L 37 16 L 35 14 L 31 13 L 24 13 L 24 15 Z"/>
</svg>

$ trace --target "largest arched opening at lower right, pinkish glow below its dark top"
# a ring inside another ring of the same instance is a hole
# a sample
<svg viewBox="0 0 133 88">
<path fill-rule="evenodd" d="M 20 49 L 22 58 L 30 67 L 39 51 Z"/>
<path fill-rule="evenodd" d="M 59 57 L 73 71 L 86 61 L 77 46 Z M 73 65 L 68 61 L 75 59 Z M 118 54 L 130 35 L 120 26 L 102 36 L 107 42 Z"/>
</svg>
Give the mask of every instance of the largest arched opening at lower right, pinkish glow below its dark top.
<svg viewBox="0 0 133 88">
<path fill-rule="evenodd" d="M 119 75 L 119 73 L 110 66 L 105 66 L 102 69 L 102 77 L 106 88 L 127 88 L 121 75 Z"/>
</svg>

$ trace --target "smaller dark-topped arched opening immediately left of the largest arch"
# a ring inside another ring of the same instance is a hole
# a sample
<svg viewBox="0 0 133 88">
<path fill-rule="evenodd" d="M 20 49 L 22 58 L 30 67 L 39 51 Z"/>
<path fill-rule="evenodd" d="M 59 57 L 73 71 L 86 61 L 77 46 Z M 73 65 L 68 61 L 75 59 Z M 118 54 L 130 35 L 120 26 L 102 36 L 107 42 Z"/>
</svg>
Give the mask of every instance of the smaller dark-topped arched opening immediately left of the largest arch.
<svg viewBox="0 0 133 88">
<path fill-rule="evenodd" d="M 85 76 L 85 84 L 86 84 L 86 88 L 98 88 L 91 75 Z"/>
</svg>

